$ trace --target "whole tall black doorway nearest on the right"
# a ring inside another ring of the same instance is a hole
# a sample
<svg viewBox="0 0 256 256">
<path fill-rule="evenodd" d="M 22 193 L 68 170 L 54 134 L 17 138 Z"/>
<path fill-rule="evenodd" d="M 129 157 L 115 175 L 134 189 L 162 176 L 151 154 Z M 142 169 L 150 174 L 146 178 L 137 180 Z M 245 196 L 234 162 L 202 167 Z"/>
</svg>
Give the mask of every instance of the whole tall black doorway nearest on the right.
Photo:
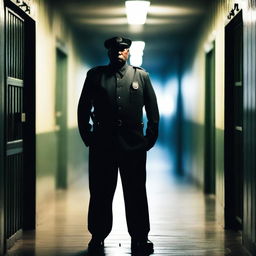
<svg viewBox="0 0 256 256">
<path fill-rule="evenodd" d="M 243 21 L 240 11 L 225 28 L 225 226 L 243 221 Z"/>
</svg>

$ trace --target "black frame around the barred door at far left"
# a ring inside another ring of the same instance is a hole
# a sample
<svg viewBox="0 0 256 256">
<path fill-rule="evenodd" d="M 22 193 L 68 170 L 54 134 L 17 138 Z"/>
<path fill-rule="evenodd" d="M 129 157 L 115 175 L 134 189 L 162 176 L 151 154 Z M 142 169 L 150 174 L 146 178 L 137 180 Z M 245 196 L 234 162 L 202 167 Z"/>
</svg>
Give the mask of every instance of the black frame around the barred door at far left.
<svg viewBox="0 0 256 256">
<path fill-rule="evenodd" d="M 5 35 L 5 10 L 11 9 L 24 19 L 24 198 L 23 198 L 23 230 L 35 229 L 36 226 L 36 126 L 35 126 L 35 21 L 11 0 L 0 1 L 0 32 Z M 6 159 L 6 69 L 5 69 L 5 39 L 0 38 L 0 255 L 7 249 L 7 240 L 4 234 L 5 202 L 2 196 L 5 191 L 5 159 Z M 15 236 L 13 238 L 15 240 Z M 9 243 L 9 241 L 8 241 Z"/>
</svg>

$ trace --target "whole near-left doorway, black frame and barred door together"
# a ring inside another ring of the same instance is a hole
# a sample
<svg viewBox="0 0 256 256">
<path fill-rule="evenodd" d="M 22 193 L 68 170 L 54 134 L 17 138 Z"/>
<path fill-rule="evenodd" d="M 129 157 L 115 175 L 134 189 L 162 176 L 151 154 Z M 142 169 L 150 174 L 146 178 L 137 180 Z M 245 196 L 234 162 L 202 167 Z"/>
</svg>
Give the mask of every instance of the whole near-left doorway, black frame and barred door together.
<svg viewBox="0 0 256 256">
<path fill-rule="evenodd" d="M 4 242 L 35 227 L 35 23 L 5 1 Z"/>
</svg>

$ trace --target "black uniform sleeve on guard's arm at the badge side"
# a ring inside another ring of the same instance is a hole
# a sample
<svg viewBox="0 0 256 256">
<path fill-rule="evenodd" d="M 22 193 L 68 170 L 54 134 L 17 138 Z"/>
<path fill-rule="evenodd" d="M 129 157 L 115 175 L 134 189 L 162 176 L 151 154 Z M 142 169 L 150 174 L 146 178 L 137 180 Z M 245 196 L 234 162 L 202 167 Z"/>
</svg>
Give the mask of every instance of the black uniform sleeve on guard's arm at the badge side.
<svg viewBox="0 0 256 256">
<path fill-rule="evenodd" d="M 144 104 L 148 120 L 145 137 L 147 139 L 147 150 L 149 150 L 154 146 L 158 137 L 159 110 L 156 95 L 148 73 L 146 73 L 144 79 Z"/>
</svg>

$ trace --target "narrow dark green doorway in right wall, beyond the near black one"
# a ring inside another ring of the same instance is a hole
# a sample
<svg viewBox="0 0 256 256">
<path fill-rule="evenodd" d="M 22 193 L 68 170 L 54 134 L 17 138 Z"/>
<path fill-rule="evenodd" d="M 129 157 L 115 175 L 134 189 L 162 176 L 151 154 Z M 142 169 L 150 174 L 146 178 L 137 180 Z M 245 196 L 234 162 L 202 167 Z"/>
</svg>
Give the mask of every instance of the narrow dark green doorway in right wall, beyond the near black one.
<svg viewBox="0 0 256 256">
<path fill-rule="evenodd" d="M 215 194 L 215 44 L 206 53 L 204 191 Z"/>
</svg>

